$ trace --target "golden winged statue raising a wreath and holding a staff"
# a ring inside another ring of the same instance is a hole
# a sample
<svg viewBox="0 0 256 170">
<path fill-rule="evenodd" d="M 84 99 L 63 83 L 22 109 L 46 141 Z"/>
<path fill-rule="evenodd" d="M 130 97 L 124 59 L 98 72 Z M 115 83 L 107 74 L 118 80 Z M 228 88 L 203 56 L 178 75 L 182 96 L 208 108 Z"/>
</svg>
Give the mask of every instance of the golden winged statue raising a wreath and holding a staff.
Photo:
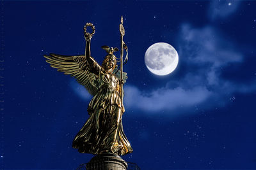
<svg viewBox="0 0 256 170">
<path fill-rule="evenodd" d="M 86 27 L 92 27 L 93 32 L 86 32 Z M 90 43 L 95 27 L 91 23 L 84 26 L 84 38 L 86 39 L 85 55 L 65 56 L 51 53 L 44 55 L 46 61 L 58 71 L 74 76 L 83 85 L 93 98 L 88 105 L 90 117 L 77 133 L 72 143 L 81 153 L 115 153 L 125 155 L 132 152 L 131 145 L 126 138 L 122 125 L 124 113 L 122 86 L 127 78 L 123 73 L 124 27 L 122 19 L 121 32 L 121 59 L 120 69 L 116 67 L 116 57 L 113 52 L 118 48 L 102 46 L 108 53 L 100 66 L 90 54 Z M 117 74 L 118 73 L 118 74 Z"/>
</svg>

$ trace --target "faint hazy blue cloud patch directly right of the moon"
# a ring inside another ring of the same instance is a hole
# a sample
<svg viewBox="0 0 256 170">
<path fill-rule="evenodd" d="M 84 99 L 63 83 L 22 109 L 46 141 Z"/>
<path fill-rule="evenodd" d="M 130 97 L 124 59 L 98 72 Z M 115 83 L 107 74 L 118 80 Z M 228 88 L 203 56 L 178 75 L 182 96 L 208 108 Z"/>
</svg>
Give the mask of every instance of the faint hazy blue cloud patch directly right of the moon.
<svg viewBox="0 0 256 170">
<path fill-rule="evenodd" d="M 180 34 L 182 52 L 189 52 L 189 62 L 225 66 L 230 62 L 241 62 L 243 56 L 232 41 L 224 38 L 211 26 L 195 29 L 188 24 L 182 25 Z M 192 53 L 191 53 L 192 52 Z"/>
</svg>

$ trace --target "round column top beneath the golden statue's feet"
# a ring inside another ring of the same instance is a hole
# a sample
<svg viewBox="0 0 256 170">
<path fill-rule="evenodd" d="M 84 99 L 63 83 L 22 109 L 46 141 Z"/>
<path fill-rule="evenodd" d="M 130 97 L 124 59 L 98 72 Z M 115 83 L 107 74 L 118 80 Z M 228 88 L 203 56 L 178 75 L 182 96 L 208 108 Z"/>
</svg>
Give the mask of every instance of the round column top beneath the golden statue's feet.
<svg viewBox="0 0 256 170">
<path fill-rule="evenodd" d="M 124 159 L 113 153 L 102 153 L 86 164 L 86 170 L 126 170 Z"/>
</svg>

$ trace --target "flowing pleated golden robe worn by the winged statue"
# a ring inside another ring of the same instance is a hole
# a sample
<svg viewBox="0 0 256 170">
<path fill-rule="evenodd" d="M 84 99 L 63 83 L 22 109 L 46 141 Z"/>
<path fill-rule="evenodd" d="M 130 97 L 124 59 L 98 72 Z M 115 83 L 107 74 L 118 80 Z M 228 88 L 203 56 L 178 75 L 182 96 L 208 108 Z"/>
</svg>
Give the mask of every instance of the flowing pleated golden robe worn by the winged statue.
<svg viewBox="0 0 256 170">
<path fill-rule="evenodd" d="M 88 105 L 90 117 L 77 133 L 72 146 L 81 153 L 111 152 L 125 155 L 132 152 L 122 125 L 119 79 L 104 70 L 95 60 L 87 71 L 91 74 L 92 83 L 99 85 L 99 90 Z"/>
</svg>

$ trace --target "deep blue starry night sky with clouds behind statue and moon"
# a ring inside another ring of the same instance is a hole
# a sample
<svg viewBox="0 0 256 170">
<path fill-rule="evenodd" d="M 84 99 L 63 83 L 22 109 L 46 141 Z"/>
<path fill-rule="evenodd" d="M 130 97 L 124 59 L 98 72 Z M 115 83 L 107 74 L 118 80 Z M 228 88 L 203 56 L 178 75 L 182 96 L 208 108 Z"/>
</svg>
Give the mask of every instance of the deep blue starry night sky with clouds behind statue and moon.
<svg viewBox="0 0 256 170">
<path fill-rule="evenodd" d="M 72 148 L 90 96 L 43 55 L 92 56 L 124 41 L 124 132 L 141 169 L 256 169 L 256 1 L 1 1 L 0 169 L 76 169 L 93 155 Z M 169 43 L 173 73 L 145 66 Z M 116 53 L 118 56 L 119 53 Z M 3 61 L 4 60 L 4 61 Z"/>
</svg>

